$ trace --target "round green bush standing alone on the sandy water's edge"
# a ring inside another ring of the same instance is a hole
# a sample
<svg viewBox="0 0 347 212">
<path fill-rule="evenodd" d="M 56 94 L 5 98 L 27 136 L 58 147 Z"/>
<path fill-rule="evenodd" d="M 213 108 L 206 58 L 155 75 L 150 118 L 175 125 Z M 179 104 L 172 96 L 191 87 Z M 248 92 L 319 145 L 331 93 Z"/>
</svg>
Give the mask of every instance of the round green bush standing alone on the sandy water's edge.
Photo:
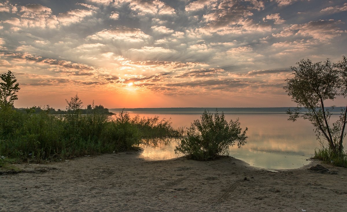
<svg viewBox="0 0 347 212">
<path fill-rule="evenodd" d="M 187 129 L 187 135 L 176 146 L 175 153 L 182 153 L 195 160 L 215 159 L 218 155 L 229 155 L 229 147 L 246 144 L 246 131 L 240 128 L 240 122 L 230 120 L 228 123 L 224 113 L 214 114 L 204 111 L 201 120 L 197 119 Z"/>
</svg>

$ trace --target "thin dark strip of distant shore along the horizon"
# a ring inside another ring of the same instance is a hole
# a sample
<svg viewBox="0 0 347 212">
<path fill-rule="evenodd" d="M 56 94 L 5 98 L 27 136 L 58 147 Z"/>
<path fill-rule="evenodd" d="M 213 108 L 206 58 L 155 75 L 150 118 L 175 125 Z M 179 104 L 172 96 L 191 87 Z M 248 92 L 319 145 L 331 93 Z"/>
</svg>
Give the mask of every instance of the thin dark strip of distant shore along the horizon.
<svg viewBox="0 0 347 212">
<path fill-rule="evenodd" d="M 294 109 L 294 107 L 274 107 L 274 108 L 217 108 L 219 112 L 239 112 L 239 113 L 285 113 L 288 108 Z M 335 107 L 333 112 L 340 112 L 342 107 Z M 110 112 L 118 113 L 124 112 L 144 112 L 144 113 L 202 113 L 204 110 L 214 112 L 216 108 L 112 108 Z M 325 108 L 328 109 L 328 108 Z M 336 114 L 336 113 L 335 113 Z"/>
</svg>

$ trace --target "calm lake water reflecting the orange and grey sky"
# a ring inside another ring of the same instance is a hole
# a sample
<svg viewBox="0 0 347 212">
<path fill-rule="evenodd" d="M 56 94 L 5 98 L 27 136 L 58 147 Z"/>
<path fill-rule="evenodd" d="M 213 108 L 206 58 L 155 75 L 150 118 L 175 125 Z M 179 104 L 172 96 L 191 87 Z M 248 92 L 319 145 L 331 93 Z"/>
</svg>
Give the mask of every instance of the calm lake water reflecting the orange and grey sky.
<svg viewBox="0 0 347 212">
<path fill-rule="evenodd" d="M 132 113 L 140 117 L 171 118 L 173 127 L 189 127 L 202 113 Z M 225 113 L 226 119 L 239 118 L 241 127 L 248 127 L 247 144 L 238 149 L 230 148 L 230 156 L 252 166 L 267 169 L 298 168 L 309 163 L 306 159 L 320 147 L 312 125 L 307 120 L 287 121 L 287 114 L 271 113 Z M 177 158 L 176 142 L 168 145 L 143 146 L 142 155 L 152 160 Z"/>
</svg>

